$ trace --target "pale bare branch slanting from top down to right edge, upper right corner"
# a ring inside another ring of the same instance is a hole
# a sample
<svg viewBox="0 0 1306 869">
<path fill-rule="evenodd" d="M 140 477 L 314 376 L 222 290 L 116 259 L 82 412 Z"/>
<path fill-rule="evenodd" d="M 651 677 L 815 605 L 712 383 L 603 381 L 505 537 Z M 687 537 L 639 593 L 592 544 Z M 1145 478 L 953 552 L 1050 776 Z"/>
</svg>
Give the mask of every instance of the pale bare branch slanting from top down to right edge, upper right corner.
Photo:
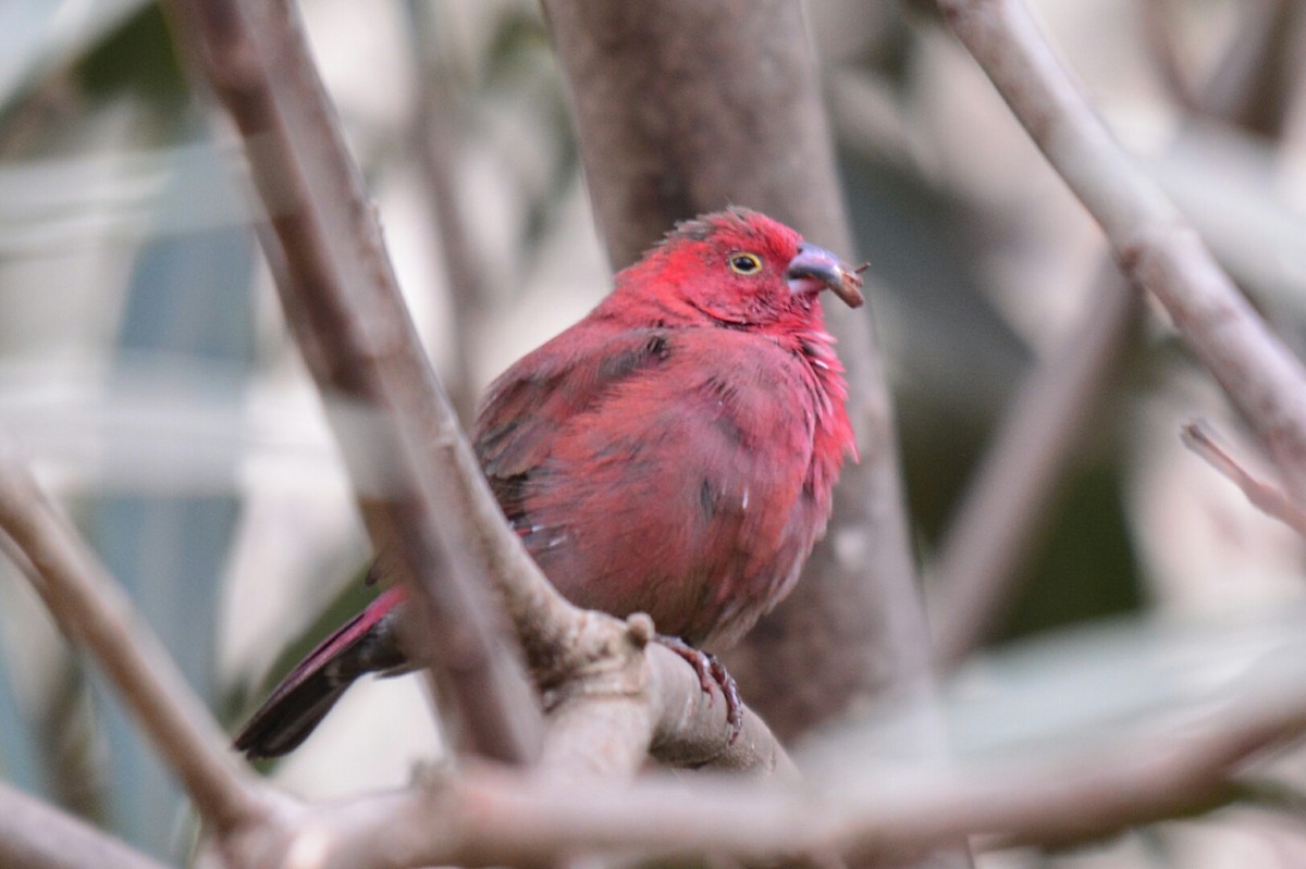
<svg viewBox="0 0 1306 869">
<path fill-rule="evenodd" d="M 1198 234 L 1131 162 L 1071 82 L 1019 0 L 940 0 L 949 25 L 1034 144 L 1101 224 L 1121 267 L 1260 436 L 1289 488 L 1306 495 L 1306 372 Z"/>
</svg>

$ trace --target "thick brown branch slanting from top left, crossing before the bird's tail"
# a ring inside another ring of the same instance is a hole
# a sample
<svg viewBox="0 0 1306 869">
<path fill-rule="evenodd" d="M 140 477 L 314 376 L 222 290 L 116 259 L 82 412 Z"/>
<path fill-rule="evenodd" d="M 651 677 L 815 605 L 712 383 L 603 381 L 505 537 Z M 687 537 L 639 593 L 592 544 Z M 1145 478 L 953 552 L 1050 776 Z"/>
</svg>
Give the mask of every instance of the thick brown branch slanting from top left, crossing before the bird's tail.
<svg viewBox="0 0 1306 869">
<path fill-rule="evenodd" d="M 376 552 L 398 568 L 423 618 L 410 646 L 451 686 L 474 746 L 525 761 L 538 707 L 478 578 L 543 578 L 503 522 L 422 352 L 298 14 L 289 0 L 170 5 L 180 43 L 246 138 L 276 234 L 263 234 L 264 248 L 319 388 L 384 408 L 366 441 L 338 418 L 333 425 L 355 481 L 380 457 L 396 484 L 362 506 Z"/>
</svg>

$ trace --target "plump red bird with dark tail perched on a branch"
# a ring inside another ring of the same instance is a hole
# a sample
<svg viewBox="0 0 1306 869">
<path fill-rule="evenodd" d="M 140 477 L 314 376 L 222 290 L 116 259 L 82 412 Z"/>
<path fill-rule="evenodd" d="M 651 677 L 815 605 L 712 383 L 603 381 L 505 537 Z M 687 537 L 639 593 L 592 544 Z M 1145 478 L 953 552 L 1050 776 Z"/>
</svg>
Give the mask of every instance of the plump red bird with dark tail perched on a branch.
<svg viewBox="0 0 1306 869">
<path fill-rule="evenodd" d="M 818 296 L 855 308 L 862 282 L 789 227 L 731 209 L 677 224 L 615 283 L 490 386 L 471 440 L 563 595 L 721 648 L 793 587 L 855 458 Z M 236 748 L 283 754 L 355 678 L 402 669 L 402 598 L 385 591 L 313 650 Z"/>
</svg>

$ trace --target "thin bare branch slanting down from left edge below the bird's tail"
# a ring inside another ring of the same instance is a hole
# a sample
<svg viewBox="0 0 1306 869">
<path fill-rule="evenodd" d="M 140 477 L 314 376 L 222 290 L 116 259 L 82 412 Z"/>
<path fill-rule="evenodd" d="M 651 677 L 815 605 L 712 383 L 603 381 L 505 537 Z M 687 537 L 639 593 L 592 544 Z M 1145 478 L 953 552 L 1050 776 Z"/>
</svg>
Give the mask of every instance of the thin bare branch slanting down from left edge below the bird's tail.
<svg viewBox="0 0 1306 869">
<path fill-rule="evenodd" d="M 0 445 L 0 528 L 60 630 L 104 669 L 200 814 L 221 831 L 268 809 L 127 594 L 46 500 L 12 446 Z"/>
</svg>

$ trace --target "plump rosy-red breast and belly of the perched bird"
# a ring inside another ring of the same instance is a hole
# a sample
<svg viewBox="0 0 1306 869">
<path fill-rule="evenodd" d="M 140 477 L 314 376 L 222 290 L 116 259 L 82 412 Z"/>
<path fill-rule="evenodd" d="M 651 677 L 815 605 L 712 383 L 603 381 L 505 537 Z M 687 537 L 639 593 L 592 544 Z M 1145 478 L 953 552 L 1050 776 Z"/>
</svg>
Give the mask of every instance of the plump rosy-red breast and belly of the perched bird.
<svg viewBox="0 0 1306 869">
<path fill-rule="evenodd" d="M 656 365 L 556 432 L 522 492 L 522 539 L 559 590 L 644 611 L 690 642 L 743 633 L 824 527 L 824 407 L 776 342 L 675 335 Z"/>
</svg>

